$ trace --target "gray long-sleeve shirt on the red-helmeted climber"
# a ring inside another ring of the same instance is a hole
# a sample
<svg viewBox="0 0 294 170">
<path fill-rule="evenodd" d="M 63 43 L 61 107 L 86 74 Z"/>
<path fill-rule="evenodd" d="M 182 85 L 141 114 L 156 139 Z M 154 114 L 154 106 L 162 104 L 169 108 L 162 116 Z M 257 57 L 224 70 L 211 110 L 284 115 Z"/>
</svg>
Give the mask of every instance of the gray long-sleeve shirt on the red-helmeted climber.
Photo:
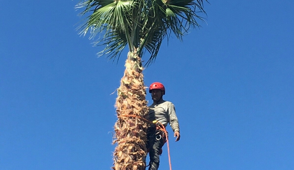
<svg viewBox="0 0 294 170">
<path fill-rule="evenodd" d="M 165 127 L 169 123 L 174 132 L 180 132 L 179 121 L 172 102 L 160 100 L 158 103 L 153 103 L 149 106 L 148 115 L 149 121 L 159 121 Z"/>
</svg>

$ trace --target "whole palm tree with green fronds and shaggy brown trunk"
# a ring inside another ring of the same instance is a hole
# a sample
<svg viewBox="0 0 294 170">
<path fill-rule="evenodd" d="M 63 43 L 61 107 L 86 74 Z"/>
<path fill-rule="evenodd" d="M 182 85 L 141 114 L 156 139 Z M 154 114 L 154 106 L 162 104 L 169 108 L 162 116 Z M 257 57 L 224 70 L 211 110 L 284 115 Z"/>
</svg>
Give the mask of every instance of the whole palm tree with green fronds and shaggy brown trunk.
<svg viewBox="0 0 294 170">
<path fill-rule="evenodd" d="M 146 87 L 141 58 L 148 51 L 148 66 L 155 61 L 164 38 L 173 33 L 182 40 L 189 28 L 198 27 L 205 13 L 203 0 L 81 0 L 76 6 L 85 22 L 80 34 L 90 32 L 103 38 L 95 45 L 105 46 L 100 54 L 118 60 L 128 46 L 125 73 L 117 89 L 113 144 L 114 170 L 145 170 L 147 117 Z"/>
</svg>

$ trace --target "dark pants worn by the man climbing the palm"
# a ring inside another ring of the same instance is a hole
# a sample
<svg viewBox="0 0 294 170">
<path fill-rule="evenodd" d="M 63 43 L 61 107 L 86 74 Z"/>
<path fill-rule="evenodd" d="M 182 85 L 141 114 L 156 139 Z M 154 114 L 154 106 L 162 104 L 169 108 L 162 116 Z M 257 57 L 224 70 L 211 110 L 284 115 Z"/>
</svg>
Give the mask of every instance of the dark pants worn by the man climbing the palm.
<svg viewBox="0 0 294 170">
<path fill-rule="evenodd" d="M 147 132 L 147 149 L 149 149 L 149 169 L 148 170 L 158 170 L 159 168 L 159 156 L 161 147 L 164 145 L 164 140 L 162 138 L 162 132 L 157 131 L 156 128 L 151 127 Z"/>
</svg>

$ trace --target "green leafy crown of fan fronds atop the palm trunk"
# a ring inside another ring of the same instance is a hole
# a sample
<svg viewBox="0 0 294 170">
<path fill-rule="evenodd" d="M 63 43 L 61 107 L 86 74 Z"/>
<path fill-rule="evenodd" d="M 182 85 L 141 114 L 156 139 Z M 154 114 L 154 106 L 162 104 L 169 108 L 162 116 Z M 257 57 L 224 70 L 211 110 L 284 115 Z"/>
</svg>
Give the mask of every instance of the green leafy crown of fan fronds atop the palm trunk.
<svg viewBox="0 0 294 170">
<path fill-rule="evenodd" d="M 90 38 L 102 33 L 104 37 L 95 42 L 105 49 L 111 59 L 119 58 L 128 45 L 130 52 L 142 57 L 150 53 L 147 65 L 159 52 L 162 40 L 173 33 L 178 39 L 189 28 L 199 26 L 197 15 L 203 10 L 203 0 L 82 0 L 76 6 L 83 8 L 81 15 L 88 15 L 80 33 L 90 32 Z"/>
</svg>

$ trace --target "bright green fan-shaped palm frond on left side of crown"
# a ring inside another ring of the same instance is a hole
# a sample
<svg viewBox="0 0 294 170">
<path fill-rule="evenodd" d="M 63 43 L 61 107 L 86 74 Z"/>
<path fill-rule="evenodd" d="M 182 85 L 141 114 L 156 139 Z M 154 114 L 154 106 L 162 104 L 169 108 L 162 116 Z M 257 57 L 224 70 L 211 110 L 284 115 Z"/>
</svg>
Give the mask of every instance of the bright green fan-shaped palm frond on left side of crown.
<svg viewBox="0 0 294 170">
<path fill-rule="evenodd" d="M 101 40 L 94 45 L 107 45 L 101 51 L 103 54 L 110 54 L 111 58 L 119 54 L 128 41 L 130 41 L 129 27 L 132 25 L 128 20 L 130 11 L 134 7 L 133 0 L 84 0 L 77 5 L 77 8 L 85 7 L 81 15 L 92 12 L 86 17 L 86 22 L 80 27 L 80 34 L 85 35 L 90 32 L 90 39 L 97 34 L 104 33 Z"/>
</svg>

